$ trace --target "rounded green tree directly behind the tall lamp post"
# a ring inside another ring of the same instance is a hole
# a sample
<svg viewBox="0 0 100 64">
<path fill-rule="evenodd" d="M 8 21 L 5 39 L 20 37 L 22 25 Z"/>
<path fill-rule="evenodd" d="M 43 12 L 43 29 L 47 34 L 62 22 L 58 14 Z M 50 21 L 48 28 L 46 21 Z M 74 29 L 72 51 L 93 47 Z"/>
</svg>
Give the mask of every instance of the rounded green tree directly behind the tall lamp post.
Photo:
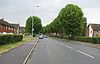
<svg viewBox="0 0 100 64">
<path fill-rule="evenodd" d="M 41 19 L 37 16 L 30 16 L 26 21 L 25 32 L 32 34 L 32 18 L 33 18 L 33 33 L 38 34 L 42 29 Z"/>
</svg>

